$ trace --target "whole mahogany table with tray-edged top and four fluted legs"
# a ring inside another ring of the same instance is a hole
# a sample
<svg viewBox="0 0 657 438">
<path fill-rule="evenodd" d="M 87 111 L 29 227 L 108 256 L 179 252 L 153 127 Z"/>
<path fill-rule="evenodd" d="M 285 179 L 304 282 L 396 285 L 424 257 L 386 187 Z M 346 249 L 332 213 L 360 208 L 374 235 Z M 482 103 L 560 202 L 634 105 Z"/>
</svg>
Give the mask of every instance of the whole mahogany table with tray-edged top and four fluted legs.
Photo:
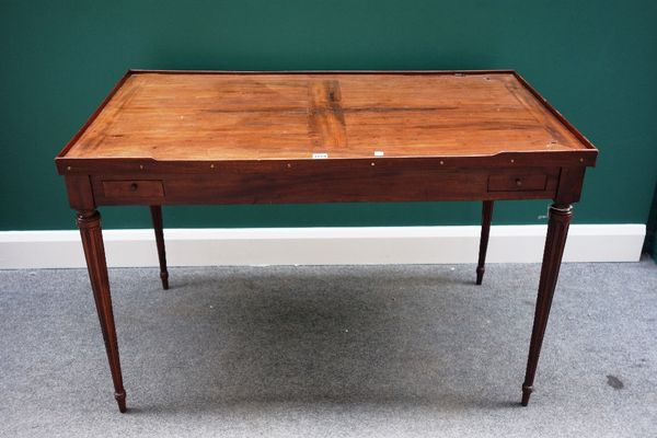
<svg viewBox="0 0 657 438">
<path fill-rule="evenodd" d="M 128 71 L 57 155 L 126 411 L 96 208 L 150 206 L 169 288 L 162 205 L 553 199 L 522 405 L 562 254 L 597 149 L 518 73 Z M 493 351 L 492 351 L 493 353 Z"/>
</svg>

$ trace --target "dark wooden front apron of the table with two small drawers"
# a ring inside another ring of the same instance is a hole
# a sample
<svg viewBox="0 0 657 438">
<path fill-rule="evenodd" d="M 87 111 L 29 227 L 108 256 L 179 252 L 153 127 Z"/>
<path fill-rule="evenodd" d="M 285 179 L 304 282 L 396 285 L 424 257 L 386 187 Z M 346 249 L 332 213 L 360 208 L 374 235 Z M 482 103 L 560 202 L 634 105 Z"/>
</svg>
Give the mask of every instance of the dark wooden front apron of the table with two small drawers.
<svg viewBox="0 0 657 438">
<path fill-rule="evenodd" d="M 560 168 L 90 175 L 95 205 L 551 199 Z"/>
</svg>

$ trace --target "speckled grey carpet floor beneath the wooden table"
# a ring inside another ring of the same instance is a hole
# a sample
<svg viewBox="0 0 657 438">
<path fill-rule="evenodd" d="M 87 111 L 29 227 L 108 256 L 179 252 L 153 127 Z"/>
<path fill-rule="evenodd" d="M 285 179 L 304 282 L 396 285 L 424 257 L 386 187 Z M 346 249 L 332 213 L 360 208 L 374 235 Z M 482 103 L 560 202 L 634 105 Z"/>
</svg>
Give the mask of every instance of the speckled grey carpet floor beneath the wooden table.
<svg viewBox="0 0 657 438">
<path fill-rule="evenodd" d="M 657 265 L 112 269 L 120 415 L 85 270 L 0 272 L 0 436 L 657 437 Z"/>
</svg>

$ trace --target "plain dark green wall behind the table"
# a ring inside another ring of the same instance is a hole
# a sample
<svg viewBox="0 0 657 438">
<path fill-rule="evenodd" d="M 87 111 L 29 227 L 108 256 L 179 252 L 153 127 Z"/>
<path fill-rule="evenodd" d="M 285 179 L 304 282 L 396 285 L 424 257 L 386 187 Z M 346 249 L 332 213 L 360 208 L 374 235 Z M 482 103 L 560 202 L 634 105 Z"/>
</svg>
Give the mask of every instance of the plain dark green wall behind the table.
<svg viewBox="0 0 657 438">
<path fill-rule="evenodd" d="M 0 0 L 0 230 L 73 227 L 53 158 L 128 68 L 495 69 L 523 74 L 601 154 L 579 223 L 641 222 L 657 180 L 654 1 Z M 546 201 L 499 203 L 541 223 Z M 105 208 L 106 228 L 148 227 Z M 477 223 L 473 203 L 165 209 L 169 227 Z"/>
</svg>

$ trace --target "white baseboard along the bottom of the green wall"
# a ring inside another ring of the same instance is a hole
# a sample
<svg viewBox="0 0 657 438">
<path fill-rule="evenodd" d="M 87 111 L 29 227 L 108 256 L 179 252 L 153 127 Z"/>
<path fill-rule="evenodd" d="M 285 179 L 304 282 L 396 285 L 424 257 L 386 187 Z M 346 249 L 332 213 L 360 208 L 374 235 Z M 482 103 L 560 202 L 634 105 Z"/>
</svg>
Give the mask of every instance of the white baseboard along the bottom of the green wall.
<svg viewBox="0 0 657 438">
<path fill-rule="evenodd" d="M 541 261 L 545 226 L 493 226 L 488 263 Z M 644 224 L 575 224 L 564 262 L 636 262 Z M 170 266 L 475 263 L 480 227 L 164 230 Z M 152 230 L 105 230 L 111 267 L 157 266 Z M 84 267 L 78 231 L 1 231 L 0 268 Z"/>
</svg>

